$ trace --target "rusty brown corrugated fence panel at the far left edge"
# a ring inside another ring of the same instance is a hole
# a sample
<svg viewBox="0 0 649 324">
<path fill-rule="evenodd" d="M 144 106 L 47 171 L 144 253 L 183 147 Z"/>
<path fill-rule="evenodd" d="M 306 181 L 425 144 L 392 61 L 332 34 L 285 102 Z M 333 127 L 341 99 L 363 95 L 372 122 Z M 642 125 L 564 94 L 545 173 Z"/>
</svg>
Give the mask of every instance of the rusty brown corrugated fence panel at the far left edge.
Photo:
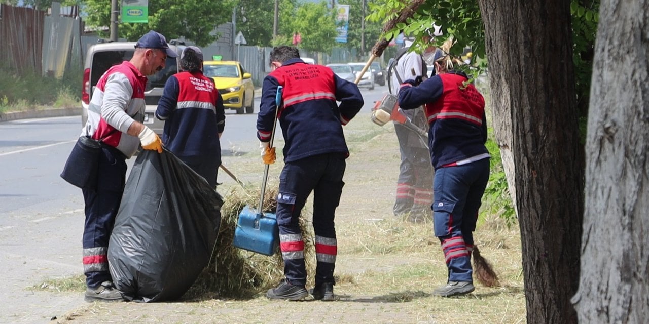
<svg viewBox="0 0 649 324">
<path fill-rule="evenodd" d="M 21 71 L 42 71 L 43 21 L 45 12 L 32 8 L 2 6 L 0 39 L 2 59 Z"/>
</svg>

